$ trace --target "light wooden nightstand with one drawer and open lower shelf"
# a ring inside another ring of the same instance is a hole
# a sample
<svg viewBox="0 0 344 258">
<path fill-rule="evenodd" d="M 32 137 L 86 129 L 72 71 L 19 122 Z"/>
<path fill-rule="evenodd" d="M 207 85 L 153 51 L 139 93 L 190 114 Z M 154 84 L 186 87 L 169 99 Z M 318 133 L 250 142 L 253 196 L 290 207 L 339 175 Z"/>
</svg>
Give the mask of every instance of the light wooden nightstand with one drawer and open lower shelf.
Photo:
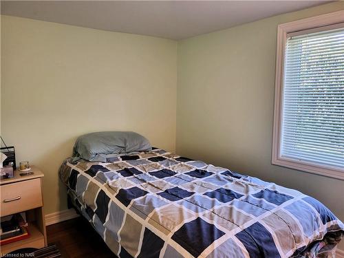
<svg viewBox="0 0 344 258">
<path fill-rule="evenodd" d="M 0 180 L 0 217 L 25 212 L 30 237 L 0 247 L 1 254 L 19 248 L 43 248 L 47 246 L 47 233 L 43 213 L 43 173 L 31 166 L 33 175 L 21 176 L 14 171 L 14 178 Z"/>
</svg>

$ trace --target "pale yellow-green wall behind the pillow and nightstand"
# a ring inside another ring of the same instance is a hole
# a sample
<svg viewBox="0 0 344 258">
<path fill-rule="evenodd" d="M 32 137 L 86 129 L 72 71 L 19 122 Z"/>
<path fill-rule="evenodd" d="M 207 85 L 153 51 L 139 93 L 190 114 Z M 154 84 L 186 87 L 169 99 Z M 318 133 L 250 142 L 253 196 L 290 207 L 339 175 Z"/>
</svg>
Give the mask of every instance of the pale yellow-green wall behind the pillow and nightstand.
<svg viewBox="0 0 344 258">
<path fill-rule="evenodd" d="M 66 208 L 57 170 L 83 133 L 137 131 L 175 150 L 175 41 L 1 19 L 1 135 L 45 173 L 45 213 Z"/>
</svg>

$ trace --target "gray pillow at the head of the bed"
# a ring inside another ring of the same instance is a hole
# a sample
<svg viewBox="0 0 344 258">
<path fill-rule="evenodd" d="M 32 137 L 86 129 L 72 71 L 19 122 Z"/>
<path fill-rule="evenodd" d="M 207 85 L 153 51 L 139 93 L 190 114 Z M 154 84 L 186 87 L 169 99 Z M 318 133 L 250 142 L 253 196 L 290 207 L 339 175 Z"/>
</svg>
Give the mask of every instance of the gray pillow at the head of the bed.
<svg viewBox="0 0 344 258">
<path fill-rule="evenodd" d="M 73 156 L 89 161 L 106 162 L 106 155 L 151 151 L 147 138 L 133 131 L 100 131 L 80 136 Z"/>
</svg>

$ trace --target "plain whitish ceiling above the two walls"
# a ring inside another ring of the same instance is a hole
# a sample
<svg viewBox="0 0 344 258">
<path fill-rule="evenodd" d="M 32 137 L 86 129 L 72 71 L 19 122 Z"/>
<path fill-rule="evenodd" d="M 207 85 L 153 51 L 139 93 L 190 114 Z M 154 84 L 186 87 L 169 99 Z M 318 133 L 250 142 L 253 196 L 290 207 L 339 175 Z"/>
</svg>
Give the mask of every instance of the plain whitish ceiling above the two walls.
<svg viewBox="0 0 344 258">
<path fill-rule="evenodd" d="M 328 1 L 1 1 L 1 14 L 186 39 Z"/>
</svg>

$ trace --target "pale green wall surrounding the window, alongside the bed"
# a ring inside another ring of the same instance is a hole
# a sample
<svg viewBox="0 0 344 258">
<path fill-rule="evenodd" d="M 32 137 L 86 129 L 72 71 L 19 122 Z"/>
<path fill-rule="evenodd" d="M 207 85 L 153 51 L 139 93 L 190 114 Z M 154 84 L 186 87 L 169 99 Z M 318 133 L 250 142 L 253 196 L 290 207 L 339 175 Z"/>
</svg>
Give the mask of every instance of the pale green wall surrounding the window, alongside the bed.
<svg viewBox="0 0 344 258">
<path fill-rule="evenodd" d="M 271 164 L 277 25 L 343 9 L 330 3 L 178 43 L 177 152 L 302 191 L 344 221 L 343 180 Z"/>
</svg>

